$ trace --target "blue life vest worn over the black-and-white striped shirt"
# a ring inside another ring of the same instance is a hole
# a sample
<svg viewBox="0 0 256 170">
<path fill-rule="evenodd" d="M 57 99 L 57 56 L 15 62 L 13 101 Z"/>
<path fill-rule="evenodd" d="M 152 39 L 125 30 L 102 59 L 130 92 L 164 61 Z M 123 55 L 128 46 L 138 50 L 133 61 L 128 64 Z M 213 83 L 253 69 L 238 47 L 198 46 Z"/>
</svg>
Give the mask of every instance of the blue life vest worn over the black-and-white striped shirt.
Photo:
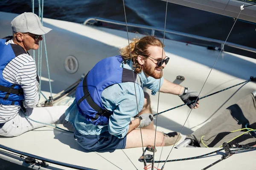
<svg viewBox="0 0 256 170">
<path fill-rule="evenodd" d="M 11 38 L 0 39 L 0 104 L 21 105 L 21 101 L 24 99 L 22 88 L 20 85 L 8 82 L 3 78 L 3 69 L 6 65 L 18 55 L 26 54 L 20 45 L 5 44 Z"/>
</svg>

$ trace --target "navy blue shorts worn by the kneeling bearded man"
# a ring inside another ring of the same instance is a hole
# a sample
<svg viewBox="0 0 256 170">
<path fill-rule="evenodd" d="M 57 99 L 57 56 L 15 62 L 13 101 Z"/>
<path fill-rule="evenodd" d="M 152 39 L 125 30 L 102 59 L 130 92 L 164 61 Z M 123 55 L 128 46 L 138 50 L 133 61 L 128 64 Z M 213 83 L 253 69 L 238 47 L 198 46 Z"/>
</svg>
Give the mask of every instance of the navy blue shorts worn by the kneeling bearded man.
<svg viewBox="0 0 256 170">
<path fill-rule="evenodd" d="M 108 131 L 100 135 L 83 135 L 75 130 L 74 138 L 87 151 L 115 150 L 124 149 L 126 136 L 122 139 L 117 138 L 108 133 Z"/>
</svg>

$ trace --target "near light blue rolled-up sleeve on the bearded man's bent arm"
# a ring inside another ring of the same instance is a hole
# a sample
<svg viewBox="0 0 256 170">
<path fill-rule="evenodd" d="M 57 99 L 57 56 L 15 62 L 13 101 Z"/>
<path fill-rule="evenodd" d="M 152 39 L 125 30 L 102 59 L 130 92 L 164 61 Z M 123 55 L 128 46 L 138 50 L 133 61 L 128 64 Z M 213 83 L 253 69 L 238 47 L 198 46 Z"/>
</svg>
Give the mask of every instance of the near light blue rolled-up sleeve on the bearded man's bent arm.
<svg viewBox="0 0 256 170">
<path fill-rule="evenodd" d="M 136 116 L 143 108 L 143 89 L 137 84 L 135 87 L 136 94 L 133 82 L 115 84 L 102 92 L 103 105 L 109 111 L 113 111 L 109 118 L 108 131 L 118 138 L 125 137 L 129 130 L 131 117 Z"/>
</svg>

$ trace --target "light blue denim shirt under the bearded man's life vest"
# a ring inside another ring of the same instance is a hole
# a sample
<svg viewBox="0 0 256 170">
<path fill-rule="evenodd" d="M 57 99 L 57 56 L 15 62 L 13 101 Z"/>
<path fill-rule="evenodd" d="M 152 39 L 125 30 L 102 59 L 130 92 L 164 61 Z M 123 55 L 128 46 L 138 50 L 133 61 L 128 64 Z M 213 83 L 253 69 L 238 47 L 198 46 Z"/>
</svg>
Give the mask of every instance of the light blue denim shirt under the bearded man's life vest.
<svg viewBox="0 0 256 170">
<path fill-rule="evenodd" d="M 121 63 L 121 68 L 127 68 L 131 70 L 131 62 L 126 61 Z M 151 89 L 152 95 L 155 95 L 159 91 L 160 79 L 154 79 L 153 77 L 146 77 L 141 72 L 138 74 L 140 77 L 141 87 L 134 82 L 123 82 L 114 84 L 102 91 L 102 104 L 108 111 L 113 111 L 113 114 L 109 118 L 108 125 L 92 125 L 87 122 L 84 116 L 82 116 L 76 105 L 76 100 L 66 110 L 66 120 L 71 122 L 76 130 L 84 135 L 99 135 L 105 131 L 110 134 L 123 138 L 128 132 L 129 123 L 131 117 L 134 117 L 140 112 L 144 105 L 144 93 L 143 88 Z M 160 87 L 163 84 L 163 77 L 161 78 Z M 135 93 L 136 91 L 136 93 Z M 137 96 L 137 101 L 136 101 Z M 138 107 L 137 107 L 138 103 Z"/>
</svg>

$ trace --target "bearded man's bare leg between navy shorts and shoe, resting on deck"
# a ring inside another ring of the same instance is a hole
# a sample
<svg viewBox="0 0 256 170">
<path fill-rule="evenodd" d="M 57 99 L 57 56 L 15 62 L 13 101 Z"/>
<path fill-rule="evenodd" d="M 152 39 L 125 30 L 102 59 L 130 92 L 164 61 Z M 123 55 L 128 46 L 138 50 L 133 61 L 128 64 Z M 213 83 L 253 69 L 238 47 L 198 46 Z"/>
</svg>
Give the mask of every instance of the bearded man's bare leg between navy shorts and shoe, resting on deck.
<svg viewBox="0 0 256 170">
<path fill-rule="evenodd" d="M 155 139 L 155 130 L 150 129 L 141 129 L 142 138 L 143 138 L 143 146 L 154 146 L 154 139 Z M 130 147 L 142 147 L 141 142 L 141 133 L 140 129 L 134 129 L 126 136 L 126 144 L 125 148 Z M 164 146 L 164 136 L 163 133 L 157 131 L 156 133 L 156 144 L 155 146 Z"/>
</svg>

